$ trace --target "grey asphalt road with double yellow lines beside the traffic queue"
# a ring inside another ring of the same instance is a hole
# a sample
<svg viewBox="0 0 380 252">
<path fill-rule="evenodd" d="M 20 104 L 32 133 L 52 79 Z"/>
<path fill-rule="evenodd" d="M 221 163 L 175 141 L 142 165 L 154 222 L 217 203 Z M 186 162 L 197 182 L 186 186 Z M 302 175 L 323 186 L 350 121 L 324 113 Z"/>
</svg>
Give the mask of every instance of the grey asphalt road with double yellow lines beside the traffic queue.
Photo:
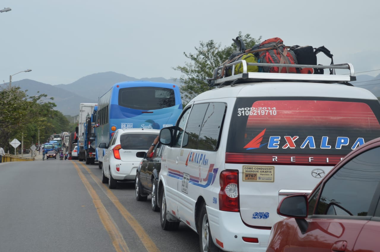
<svg viewBox="0 0 380 252">
<path fill-rule="evenodd" d="M 161 229 L 150 196 L 136 201 L 134 183 L 102 184 L 97 163 L 41 155 L 1 163 L 0 192 L 0 251 L 199 250 L 185 224 Z"/>
</svg>

